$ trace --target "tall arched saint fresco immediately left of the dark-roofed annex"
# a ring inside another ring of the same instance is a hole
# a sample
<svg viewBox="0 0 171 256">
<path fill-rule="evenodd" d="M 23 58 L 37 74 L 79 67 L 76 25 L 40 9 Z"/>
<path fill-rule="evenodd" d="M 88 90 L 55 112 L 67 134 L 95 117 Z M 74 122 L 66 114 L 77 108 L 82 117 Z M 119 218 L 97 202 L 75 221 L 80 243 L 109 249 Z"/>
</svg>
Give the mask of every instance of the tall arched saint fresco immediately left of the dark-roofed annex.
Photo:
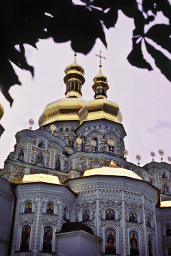
<svg viewBox="0 0 171 256">
<path fill-rule="evenodd" d="M 53 230 L 51 227 L 44 228 L 44 236 L 43 236 L 43 252 L 51 253 L 52 251 L 52 237 Z"/>
</svg>

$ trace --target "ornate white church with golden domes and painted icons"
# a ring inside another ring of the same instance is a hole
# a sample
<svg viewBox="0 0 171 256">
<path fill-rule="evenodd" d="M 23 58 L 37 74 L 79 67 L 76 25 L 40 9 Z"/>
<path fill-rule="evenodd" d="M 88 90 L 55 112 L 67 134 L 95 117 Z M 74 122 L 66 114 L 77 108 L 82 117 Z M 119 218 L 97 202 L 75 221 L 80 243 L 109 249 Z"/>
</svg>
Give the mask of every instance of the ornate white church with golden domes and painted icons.
<svg viewBox="0 0 171 256">
<path fill-rule="evenodd" d="M 90 101 L 76 54 L 65 74 L 65 97 L 16 133 L 0 169 L 0 256 L 171 255 L 171 165 L 127 162 L 101 65 Z"/>
</svg>

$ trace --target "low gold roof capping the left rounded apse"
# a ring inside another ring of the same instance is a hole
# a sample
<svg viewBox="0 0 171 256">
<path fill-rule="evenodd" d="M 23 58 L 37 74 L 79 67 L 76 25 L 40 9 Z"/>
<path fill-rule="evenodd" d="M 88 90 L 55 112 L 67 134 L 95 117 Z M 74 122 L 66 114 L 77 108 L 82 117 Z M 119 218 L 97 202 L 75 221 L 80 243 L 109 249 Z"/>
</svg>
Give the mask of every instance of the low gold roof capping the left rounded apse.
<svg viewBox="0 0 171 256">
<path fill-rule="evenodd" d="M 34 175 L 22 175 L 18 177 L 14 177 L 10 180 L 12 183 L 33 183 L 33 182 L 45 182 L 45 183 L 52 183 L 62 185 L 57 176 L 53 175 L 45 175 L 43 173 L 38 173 Z"/>
</svg>

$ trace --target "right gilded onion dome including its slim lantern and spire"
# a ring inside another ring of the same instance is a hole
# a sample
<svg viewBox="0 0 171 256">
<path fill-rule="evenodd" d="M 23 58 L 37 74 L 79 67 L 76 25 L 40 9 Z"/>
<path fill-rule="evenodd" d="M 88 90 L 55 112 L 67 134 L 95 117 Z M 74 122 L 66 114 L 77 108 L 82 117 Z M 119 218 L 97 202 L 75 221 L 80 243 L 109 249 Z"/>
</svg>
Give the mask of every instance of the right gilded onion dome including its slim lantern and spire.
<svg viewBox="0 0 171 256">
<path fill-rule="evenodd" d="M 118 104 L 113 101 L 107 100 L 107 90 L 109 89 L 107 77 L 100 71 L 93 79 L 94 85 L 94 100 L 88 101 L 88 103 L 79 111 L 79 119 L 81 123 L 83 121 L 96 120 L 96 119 L 108 119 L 117 123 L 122 122 L 122 114 L 120 112 Z"/>
</svg>

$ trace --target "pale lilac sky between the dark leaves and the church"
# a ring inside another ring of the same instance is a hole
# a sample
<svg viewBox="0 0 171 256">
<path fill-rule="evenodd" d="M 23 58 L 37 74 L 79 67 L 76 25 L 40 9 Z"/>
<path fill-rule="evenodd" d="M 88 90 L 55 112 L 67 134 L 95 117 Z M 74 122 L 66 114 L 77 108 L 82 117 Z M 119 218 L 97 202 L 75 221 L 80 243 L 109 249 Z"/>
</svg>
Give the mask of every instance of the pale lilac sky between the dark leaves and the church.
<svg viewBox="0 0 171 256">
<path fill-rule="evenodd" d="M 137 164 L 135 155 L 138 154 L 142 157 L 140 166 L 143 166 L 151 162 L 150 151 L 154 151 L 155 161 L 161 162 L 158 150 L 162 149 L 163 161 L 168 162 L 168 156 L 171 156 L 171 84 L 155 67 L 148 53 L 146 56 L 154 71 L 129 64 L 127 56 L 131 51 L 132 29 L 133 22 L 120 14 L 116 28 L 106 30 L 107 49 L 101 40 L 96 40 L 88 55 L 77 53 L 77 63 L 85 69 L 82 98 L 94 99 L 93 78 L 99 71 L 99 60 L 94 54 L 101 49 L 107 58 L 102 62 L 103 74 L 109 82 L 107 99 L 120 106 L 122 124 L 127 133 L 124 139 L 125 148 L 129 151 L 127 161 Z M 37 47 L 38 51 L 26 47 L 27 60 L 35 68 L 34 78 L 29 72 L 15 68 L 22 86 L 10 89 L 14 99 L 12 107 L 0 92 L 0 103 L 5 109 L 1 119 L 5 131 L 0 139 L 0 168 L 3 168 L 9 153 L 14 151 L 16 132 L 29 129 L 29 118 L 35 121 L 33 129 L 38 129 L 38 118 L 44 107 L 63 98 L 66 91 L 64 70 L 74 60 L 70 42 L 55 44 L 52 39 L 42 40 Z"/>
</svg>

